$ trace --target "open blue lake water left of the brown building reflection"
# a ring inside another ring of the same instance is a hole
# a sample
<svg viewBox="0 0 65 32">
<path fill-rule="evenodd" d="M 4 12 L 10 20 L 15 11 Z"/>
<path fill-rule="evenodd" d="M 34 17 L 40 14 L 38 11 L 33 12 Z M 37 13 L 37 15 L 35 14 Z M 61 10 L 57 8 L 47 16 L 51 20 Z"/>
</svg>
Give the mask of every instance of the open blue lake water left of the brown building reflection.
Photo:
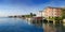
<svg viewBox="0 0 65 32">
<path fill-rule="evenodd" d="M 24 19 L 0 18 L 0 32 L 43 32 L 43 29 Z"/>
</svg>

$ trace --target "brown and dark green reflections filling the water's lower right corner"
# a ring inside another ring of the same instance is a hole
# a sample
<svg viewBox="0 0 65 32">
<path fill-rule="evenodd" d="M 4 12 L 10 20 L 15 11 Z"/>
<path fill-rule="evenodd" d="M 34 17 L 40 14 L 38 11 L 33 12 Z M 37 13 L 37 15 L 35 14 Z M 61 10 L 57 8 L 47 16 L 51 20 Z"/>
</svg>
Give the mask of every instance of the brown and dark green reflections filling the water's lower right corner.
<svg viewBox="0 0 65 32">
<path fill-rule="evenodd" d="M 51 25 L 43 23 L 44 32 L 65 32 L 65 26 L 62 23 Z"/>
</svg>

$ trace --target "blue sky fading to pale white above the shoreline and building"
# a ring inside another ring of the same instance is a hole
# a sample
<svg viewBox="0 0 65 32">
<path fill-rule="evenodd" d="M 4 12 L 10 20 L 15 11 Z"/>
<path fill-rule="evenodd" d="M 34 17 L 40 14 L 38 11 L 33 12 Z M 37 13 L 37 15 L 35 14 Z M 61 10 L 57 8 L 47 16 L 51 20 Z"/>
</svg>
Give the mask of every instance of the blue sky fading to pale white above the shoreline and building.
<svg viewBox="0 0 65 32">
<path fill-rule="evenodd" d="M 0 0 L 0 16 L 37 14 L 47 6 L 64 7 L 65 0 Z"/>
</svg>

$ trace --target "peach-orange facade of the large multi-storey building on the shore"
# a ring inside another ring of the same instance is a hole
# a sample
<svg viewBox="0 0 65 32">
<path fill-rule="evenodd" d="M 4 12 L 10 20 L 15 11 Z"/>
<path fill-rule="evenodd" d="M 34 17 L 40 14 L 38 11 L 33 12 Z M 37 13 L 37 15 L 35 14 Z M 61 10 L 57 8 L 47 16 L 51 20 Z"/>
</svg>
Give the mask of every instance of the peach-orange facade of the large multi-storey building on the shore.
<svg viewBox="0 0 65 32">
<path fill-rule="evenodd" d="M 46 17 L 61 17 L 62 16 L 62 9 L 60 7 L 47 7 L 44 10 Z"/>
</svg>

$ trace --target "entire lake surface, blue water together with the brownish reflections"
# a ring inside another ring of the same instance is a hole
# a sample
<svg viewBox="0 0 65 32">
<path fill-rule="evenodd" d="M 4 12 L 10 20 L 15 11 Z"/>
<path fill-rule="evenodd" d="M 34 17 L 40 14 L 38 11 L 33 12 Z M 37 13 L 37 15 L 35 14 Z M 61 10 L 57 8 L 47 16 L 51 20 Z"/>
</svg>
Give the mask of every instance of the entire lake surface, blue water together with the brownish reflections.
<svg viewBox="0 0 65 32">
<path fill-rule="evenodd" d="M 21 18 L 0 18 L 0 32 L 65 32 L 65 23 L 30 23 Z"/>
</svg>

